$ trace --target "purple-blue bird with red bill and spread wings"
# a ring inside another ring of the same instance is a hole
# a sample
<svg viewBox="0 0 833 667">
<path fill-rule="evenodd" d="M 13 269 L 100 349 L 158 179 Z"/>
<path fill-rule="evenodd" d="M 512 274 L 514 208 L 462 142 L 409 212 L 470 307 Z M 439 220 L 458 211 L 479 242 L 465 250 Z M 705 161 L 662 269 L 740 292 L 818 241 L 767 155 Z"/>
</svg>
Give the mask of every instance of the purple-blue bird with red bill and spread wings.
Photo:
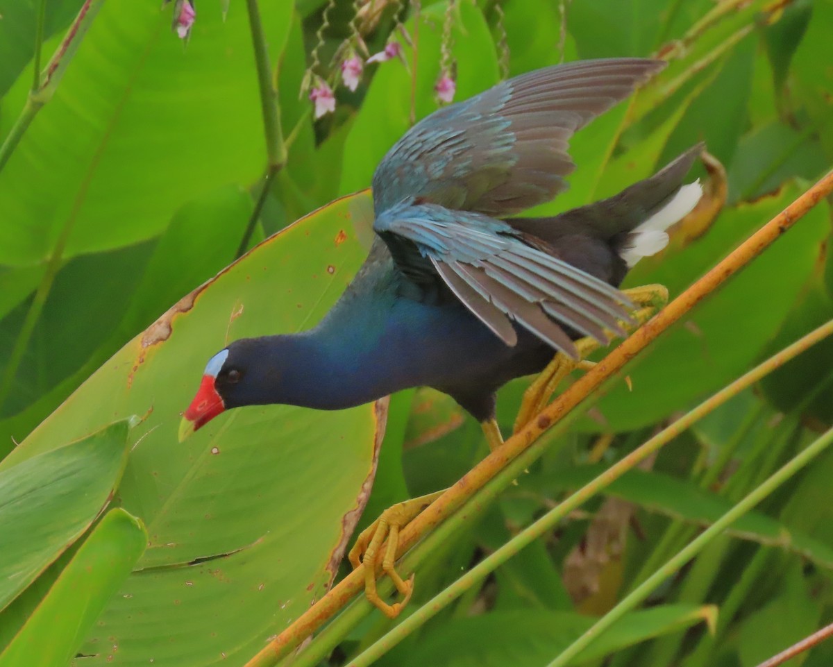
<svg viewBox="0 0 833 667">
<path fill-rule="evenodd" d="M 431 386 L 499 446 L 496 390 L 554 355 L 579 361 L 576 341 L 625 336 L 644 295 L 621 281 L 701 197 L 699 182 L 683 182 L 696 146 L 614 197 L 516 217 L 566 188 L 571 135 L 664 66 L 626 57 L 543 67 L 416 123 L 374 172 L 375 238 L 337 303 L 307 331 L 243 338 L 212 356 L 180 440 L 232 408 L 340 410 Z M 411 589 L 396 583 L 403 605 Z M 402 606 L 372 601 L 388 615 Z"/>
</svg>

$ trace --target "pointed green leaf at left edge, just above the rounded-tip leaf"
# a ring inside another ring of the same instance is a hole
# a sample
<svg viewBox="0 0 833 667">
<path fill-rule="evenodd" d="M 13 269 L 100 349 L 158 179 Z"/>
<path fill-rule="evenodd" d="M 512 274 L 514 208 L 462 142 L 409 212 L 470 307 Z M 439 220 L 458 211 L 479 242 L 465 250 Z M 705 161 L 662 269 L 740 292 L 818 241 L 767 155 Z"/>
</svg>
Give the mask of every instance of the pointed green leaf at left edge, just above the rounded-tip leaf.
<svg viewBox="0 0 833 667">
<path fill-rule="evenodd" d="M 65 442 L 72 436 L 64 437 Z M 112 497 L 127 421 L 19 462 L 0 463 L 0 610 L 77 540 Z"/>
</svg>

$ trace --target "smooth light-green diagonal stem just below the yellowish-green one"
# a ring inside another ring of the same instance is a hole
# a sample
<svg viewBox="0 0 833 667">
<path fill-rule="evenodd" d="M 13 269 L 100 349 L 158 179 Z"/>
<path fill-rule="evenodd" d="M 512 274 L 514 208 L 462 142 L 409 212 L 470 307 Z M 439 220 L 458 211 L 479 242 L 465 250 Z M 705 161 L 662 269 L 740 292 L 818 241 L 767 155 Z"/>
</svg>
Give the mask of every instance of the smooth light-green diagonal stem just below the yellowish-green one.
<svg viewBox="0 0 833 667">
<path fill-rule="evenodd" d="M 774 490 L 781 486 L 784 482 L 789 480 L 792 475 L 804 468 L 805 465 L 820 455 L 826 450 L 828 446 L 833 443 L 833 428 L 826 431 L 826 433 L 807 445 L 806 449 L 794 456 L 790 461 L 783 465 L 781 469 L 777 470 L 774 475 L 771 475 L 763 484 L 758 486 L 750 494 L 746 495 L 737 505 L 731 510 L 722 515 L 720 519 L 716 520 L 711 526 L 704 530 L 695 540 L 692 540 L 685 549 L 681 550 L 671 560 L 668 560 L 660 570 L 657 570 L 646 582 L 640 585 L 630 595 L 627 595 L 621 602 L 612 610 L 602 616 L 601 619 L 592 625 L 590 630 L 587 630 L 584 635 L 581 635 L 576 641 L 564 650 L 556 660 L 553 660 L 547 667 L 565 667 L 570 661 L 585 650 L 587 646 L 591 645 L 602 632 L 611 627 L 622 616 L 629 611 L 641 605 L 656 588 L 662 584 L 668 577 L 675 574 L 686 563 L 701 552 L 701 550 L 708 545 L 717 535 L 720 535 L 723 530 L 726 530 L 736 520 L 740 519 L 742 515 L 751 510 L 761 500 L 764 500 Z"/>
</svg>

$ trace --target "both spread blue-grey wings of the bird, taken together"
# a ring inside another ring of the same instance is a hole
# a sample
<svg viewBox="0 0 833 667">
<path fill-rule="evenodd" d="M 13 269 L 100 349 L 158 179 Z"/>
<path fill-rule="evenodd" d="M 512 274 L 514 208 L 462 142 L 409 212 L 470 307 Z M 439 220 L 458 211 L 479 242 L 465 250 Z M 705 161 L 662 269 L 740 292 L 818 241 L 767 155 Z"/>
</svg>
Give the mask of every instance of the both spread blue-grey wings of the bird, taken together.
<svg viewBox="0 0 833 667">
<path fill-rule="evenodd" d="M 374 229 L 416 284 L 446 286 L 508 346 L 511 321 L 577 358 L 553 321 L 606 344 L 632 307 L 620 291 L 496 219 L 547 202 L 575 168 L 576 130 L 665 62 L 611 58 L 545 67 L 434 112 L 373 175 Z M 538 247 L 536 247 L 538 246 Z"/>
</svg>

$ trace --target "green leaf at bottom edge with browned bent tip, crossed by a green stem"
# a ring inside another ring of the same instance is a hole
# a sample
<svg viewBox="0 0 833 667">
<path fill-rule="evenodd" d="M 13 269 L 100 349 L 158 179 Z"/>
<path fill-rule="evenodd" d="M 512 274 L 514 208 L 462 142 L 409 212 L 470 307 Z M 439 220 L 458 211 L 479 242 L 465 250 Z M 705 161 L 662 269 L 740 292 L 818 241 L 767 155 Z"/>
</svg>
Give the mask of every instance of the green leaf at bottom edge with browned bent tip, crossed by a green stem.
<svg viewBox="0 0 833 667">
<path fill-rule="evenodd" d="M 716 610 L 709 606 L 661 605 L 626 615 L 576 659 L 575 664 L 598 660 L 627 646 L 675 630 L 711 623 Z M 394 663 L 402 667 L 544 667 L 590 628 L 594 619 L 566 611 L 516 610 L 455 619 Z M 391 656 L 393 657 L 393 655 Z"/>
</svg>

